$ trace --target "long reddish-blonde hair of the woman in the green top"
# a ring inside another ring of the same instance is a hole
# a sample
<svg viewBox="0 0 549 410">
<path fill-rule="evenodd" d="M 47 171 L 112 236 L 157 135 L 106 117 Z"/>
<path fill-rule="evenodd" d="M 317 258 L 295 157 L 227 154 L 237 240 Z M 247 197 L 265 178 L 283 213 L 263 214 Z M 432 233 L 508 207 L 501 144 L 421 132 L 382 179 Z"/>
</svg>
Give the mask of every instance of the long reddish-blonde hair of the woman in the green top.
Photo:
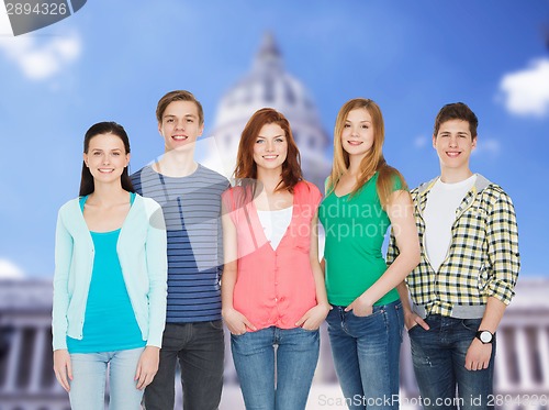
<svg viewBox="0 0 549 410">
<path fill-rule="evenodd" d="M 362 158 L 360 163 L 360 176 L 358 178 L 357 185 L 352 188 L 351 196 L 356 195 L 365 184 L 372 177 L 372 175 L 378 171 L 378 182 L 376 188 L 378 190 L 378 196 L 380 198 L 381 204 L 385 208 L 389 196 L 394 190 L 395 178 L 400 179 L 402 188 L 407 189 L 404 177 L 395 168 L 389 166 L 383 157 L 383 142 L 385 140 L 385 126 L 383 123 L 383 115 L 381 114 L 381 109 L 379 106 L 365 98 L 355 98 L 347 101 L 339 110 L 336 119 L 336 125 L 334 129 L 334 164 L 332 166 L 332 173 L 328 178 L 327 193 L 332 192 L 339 178 L 349 168 L 349 154 L 343 148 L 341 145 L 341 133 L 347 121 L 347 115 L 350 111 L 357 109 L 365 109 L 368 111 L 372 119 L 373 126 L 373 145 L 368 154 Z"/>
</svg>

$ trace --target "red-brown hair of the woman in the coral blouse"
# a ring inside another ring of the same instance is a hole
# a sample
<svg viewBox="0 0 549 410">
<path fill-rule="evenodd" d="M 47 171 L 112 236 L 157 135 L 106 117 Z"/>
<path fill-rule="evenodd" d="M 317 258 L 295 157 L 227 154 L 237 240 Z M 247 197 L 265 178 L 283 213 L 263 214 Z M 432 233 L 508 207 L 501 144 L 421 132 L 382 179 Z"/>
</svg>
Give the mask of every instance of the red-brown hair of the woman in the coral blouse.
<svg viewBox="0 0 549 410">
<path fill-rule="evenodd" d="M 261 128 L 266 124 L 279 125 L 284 131 L 288 142 L 288 154 L 282 164 L 281 179 L 276 190 L 287 189 L 293 192 L 295 185 L 303 179 L 303 174 L 301 171 L 301 155 L 293 140 L 290 122 L 282 113 L 272 108 L 262 108 L 256 111 L 244 128 L 238 144 L 238 154 L 236 155 L 235 179 L 237 181 L 257 180 L 257 164 L 254 160 L 254 144 L 259 136 Z"/>
</svg>

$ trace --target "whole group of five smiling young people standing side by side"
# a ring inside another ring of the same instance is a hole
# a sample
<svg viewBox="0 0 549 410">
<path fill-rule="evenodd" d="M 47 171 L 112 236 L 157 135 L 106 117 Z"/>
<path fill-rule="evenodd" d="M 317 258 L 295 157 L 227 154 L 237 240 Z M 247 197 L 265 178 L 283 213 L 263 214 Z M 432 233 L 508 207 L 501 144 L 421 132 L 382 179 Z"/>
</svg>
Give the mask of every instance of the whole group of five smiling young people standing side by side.
<svg viewBox="0 0 549 410">
<path fill-rule="evenodd" d="M 79 197 L 59 210 L 54 370 L 72 409 L 103 409 L 107 374 L 111 409 L 173 409 L 177 362 L 183 409 L 217 409 L 223 322 L 246 409 L 305 409 L 324 321 L 349 409 L 399 408 L 404 324 L 425 408 L 490 408 L 518 234 L 509 197 L 469 168 L 466 104 L 439 111 L 440 176 L 408 192 L 378 104 L 346 102 L 324 198 L 273 109 L 244 128 L 233 185 L 193 158 L 192 93 L 168 92 L 156 115 L 165 154 L 132 176 L 124 129 L 92 125 Z"/>
</svg>

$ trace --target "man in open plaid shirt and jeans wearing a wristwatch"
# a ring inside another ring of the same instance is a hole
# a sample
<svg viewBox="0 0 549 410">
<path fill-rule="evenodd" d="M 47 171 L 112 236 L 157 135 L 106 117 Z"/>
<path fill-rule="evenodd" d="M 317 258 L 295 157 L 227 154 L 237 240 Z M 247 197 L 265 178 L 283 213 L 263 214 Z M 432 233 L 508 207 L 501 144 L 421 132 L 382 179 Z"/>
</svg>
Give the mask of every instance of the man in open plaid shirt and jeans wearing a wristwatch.
<svg viewBox="0 0 549 410">
<path fill-rule="evenodd" d="M 477 126 L 464 103 L 442 107 L 440 176 L 411 192 L 422 261 L 399 291 L 425 409 L 493 408 L 494 334 L 520 265 L 511 198 L 469 168 Z M 392 239 L 388 264 L 397 252 Z"/>
</svg>

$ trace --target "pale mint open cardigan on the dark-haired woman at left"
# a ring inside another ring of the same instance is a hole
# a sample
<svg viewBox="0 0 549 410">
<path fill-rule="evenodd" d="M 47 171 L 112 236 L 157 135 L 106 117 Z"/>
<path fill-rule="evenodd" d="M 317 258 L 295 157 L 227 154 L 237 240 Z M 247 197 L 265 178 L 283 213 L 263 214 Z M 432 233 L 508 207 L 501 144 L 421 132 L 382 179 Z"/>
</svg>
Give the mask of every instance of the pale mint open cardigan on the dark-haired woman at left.
<svg viewBox="0 0 549 410">
<path fill-rule="evenodd" d="M 116 245 L 122 274 L 144 341 L 161 347 L 166 322 L 167 240 L 160 206 L 138 195 L 120 231 Z M 82 339 L 93 241 L 79 198 L 65 203 L 57 217 L 53 303 L 53 348 L 67 348 L 67 335 Z M 112 312 L 116 314 L 116 312 Z"/>
</svg>

